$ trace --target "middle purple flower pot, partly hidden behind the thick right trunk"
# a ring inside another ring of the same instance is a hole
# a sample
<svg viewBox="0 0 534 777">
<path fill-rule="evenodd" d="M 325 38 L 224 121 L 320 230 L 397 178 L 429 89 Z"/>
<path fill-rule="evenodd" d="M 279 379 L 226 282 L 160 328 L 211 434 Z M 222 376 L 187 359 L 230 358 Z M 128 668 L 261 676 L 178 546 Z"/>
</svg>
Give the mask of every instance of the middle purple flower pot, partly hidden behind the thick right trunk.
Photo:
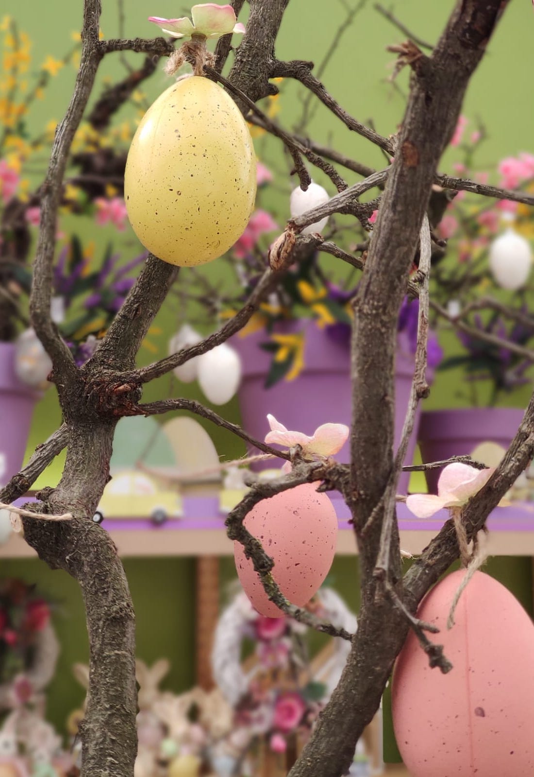
<svg viewBox="0 0 534 777">
<path fill-rule="evenodd" d="M 263 440 L 269 432 L 267 413 L 290 430 L 313 434 L 321 423 L 351 424 L 352 395 L 350 382 L 350 351 L 347 343 L 328 334 L 328 329 L 319 329 L 314 322 L 290 322 L 277 331 L 294 333 L 304 329 L 304 368 L 293 381 L 281 380 L 270 389 L 265 389 L 265 378 L 269 372 L 272 354 L 259 347 L 269 340 L 264 330 L 245 337 L 232 339 L 242 361 L 242 379 L 238 391 L 243 427 L 253 437 Z M 395 379 L 395 445 L 401 440 L 404 416 L 410 395 L 414 372 L 414 357 L 407 350 L 404 336 L 399 336 L 397 370 Z M 406 462 L 414 458 L 417 440 L 418 418 L 410 443 Z M 338 461 L 348 462 L 350 458 L 348 441 L 336 455 Z M 272 467 L 272 462 L 262 463 L 261 469 Z M 404 472 L 398 486 L 399 493 L 406 493 L 410 474 Z"/>
</svg>

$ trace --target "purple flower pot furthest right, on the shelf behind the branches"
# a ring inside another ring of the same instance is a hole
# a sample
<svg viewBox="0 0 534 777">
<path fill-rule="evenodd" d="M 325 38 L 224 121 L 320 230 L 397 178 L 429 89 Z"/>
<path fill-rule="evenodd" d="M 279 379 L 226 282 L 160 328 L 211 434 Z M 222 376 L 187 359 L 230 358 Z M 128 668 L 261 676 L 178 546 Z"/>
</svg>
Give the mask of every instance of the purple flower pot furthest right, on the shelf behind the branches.
<svg viewBox="0 0 534 777">
<path fill-rule="evenodd" d="M 483 442 L 508 448 L 525 411 L 511 407 L 432 410 L 421 414 L 419 447 L 423 462 L 441 462 L 473 453 Z M 438 493 L 440 469 L 425 472 L 429 493 Z"/>
</svg>

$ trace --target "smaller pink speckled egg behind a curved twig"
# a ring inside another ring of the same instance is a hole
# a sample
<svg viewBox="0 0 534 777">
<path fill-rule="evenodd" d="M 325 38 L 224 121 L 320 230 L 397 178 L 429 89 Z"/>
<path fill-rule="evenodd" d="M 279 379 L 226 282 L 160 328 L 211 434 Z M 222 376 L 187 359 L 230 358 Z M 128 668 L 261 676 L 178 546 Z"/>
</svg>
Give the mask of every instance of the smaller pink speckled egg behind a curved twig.
<svg viewBox="0 0 534 777">
<path fill-rule="evenodd" d="M 338 518 L 327 495 L 317 493 L 317 485 L 306 483 L 264 499 L 244 519 L 248 531 L 272 557 L 272 576 L 280 591 L 298 607 L 317 593 L 335 556 Z M 252 605 L 261 615 L 279 617 L 281 611 L 267 598 L 239 542 L 234 542 L 234 559 Z"/>
</svg>

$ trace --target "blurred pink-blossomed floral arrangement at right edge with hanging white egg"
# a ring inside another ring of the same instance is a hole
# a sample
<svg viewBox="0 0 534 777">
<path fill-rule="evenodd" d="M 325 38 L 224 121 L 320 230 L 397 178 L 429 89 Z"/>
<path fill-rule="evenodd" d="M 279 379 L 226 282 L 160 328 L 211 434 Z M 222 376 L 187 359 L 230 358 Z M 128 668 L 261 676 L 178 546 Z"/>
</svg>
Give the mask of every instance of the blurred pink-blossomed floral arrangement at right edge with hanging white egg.
<svg viewBox="0 0 534 777">
<path fill-rule="evenodd" d="M 502 188 L 532 193 L 534 155 L 507 157 L 491 172 L 477 169 L 477 152 L 486 134 L 484 127 L 477 127 L 464 140 L 468 125 L 460 117 L 452 141 L 461 152 L 456 172 L 482 185 L 494 179 Z M 432 267 L 435 311 L 453 325 L 464 325 L 455 326 L 462 352 L 447 357 L 440 369 L 463 368 L 473 405 L 479 403 L 477 382 L 489 381 L 489 402 L 494 405 L 502 395 L 532 381 L 532 208 L 511 200 L 490 200 L 480 207 L 473 194 L 459 192 L 438 232 L 446 245 L 445 256 Z"/>
</svg>

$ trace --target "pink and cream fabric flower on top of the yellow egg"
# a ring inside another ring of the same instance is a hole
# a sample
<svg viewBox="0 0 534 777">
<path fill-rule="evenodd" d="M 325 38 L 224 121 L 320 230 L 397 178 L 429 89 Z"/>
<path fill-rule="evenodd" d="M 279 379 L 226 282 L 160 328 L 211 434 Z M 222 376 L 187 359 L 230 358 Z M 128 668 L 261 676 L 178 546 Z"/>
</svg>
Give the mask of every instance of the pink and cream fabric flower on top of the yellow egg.
<svg viewBox="0 0 534 777">
<path fill-rule="evenodd" d="M 192 19 L 192 22 L 191 22 Z M 244 25 L 237 22 L 231 5 L 217 5 L 213 2 L 193 5 L 191 19 L 182 16 L 181 19 L 162 19 L 161 16 L 149 16 L 148 21 L 154 22 L 164 33 L 173 38 L 190 38 L 192 35 L 205 35 L 206 38 L 220 38 L 229 33 L 244 33 Z"/>
</svg>

